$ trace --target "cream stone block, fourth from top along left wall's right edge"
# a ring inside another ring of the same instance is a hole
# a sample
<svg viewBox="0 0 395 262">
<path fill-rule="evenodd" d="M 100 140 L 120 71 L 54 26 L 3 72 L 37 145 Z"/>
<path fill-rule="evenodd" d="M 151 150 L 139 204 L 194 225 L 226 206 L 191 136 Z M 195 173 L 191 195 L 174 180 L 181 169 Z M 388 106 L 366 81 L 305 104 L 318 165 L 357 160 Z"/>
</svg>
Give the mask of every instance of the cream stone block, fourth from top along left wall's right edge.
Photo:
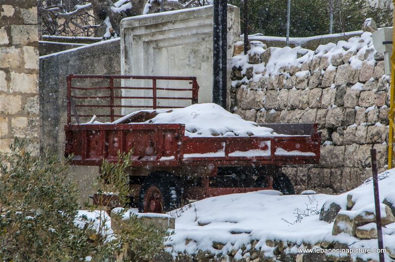
<svg viewBox="0 0 395 262">
<path fill-rule="evenodd" d="M 34 93 L 38 92 L 37 74 L 11 72 L 10 92 Z"/>
</svg>

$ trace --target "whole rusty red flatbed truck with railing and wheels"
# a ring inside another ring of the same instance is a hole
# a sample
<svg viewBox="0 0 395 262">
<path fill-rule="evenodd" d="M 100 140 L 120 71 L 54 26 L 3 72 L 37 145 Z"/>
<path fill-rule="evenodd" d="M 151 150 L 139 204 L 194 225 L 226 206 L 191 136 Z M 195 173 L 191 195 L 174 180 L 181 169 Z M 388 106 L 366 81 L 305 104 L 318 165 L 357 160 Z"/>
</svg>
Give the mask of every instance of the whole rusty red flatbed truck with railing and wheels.
<svg viewBox="0 0 395 262">
<path fill-rule="evenodd" d="M 81 79 L 83 81 L 78 81 Z M 149 79 L 152 86 L 117 86 L 115 82 L 119 79 Z M 74 84 L 76 80 L 80 84 Z M 109 84 L 91 86 L 87 84 L 88 80 L 108 80 Z M 158 87 L 160 81 L 166 81 L 166 87 Z M 168 87 L 171 81 L 183 81 L 188 86 Z M 183 124 L 142 123 L 154 117 L 155 111 L 139 112 L 116 124 L 79 123 L 80 117 L 93 114 L 78 114 L 80 108 L 85 112 L 87 108 L 100 109 L 102 113 L 96 116 L 113 122 L 115 117 L 123 116 L 119 113 L 121 108 L 170 109 L 176 107 L 168 106 L 168 103 L 160 106 L 161 101 L 175 100 L 197 103 L 199 86 L 196 77 L 69 75 L 67 84 L 65 156 L 73 154 L 72 165 L 97 166 L 103 159 L 116 162 L 119 150 L 133 150 L 129 169 L 131 206 L 137 206 L 140 212 L 162 213 L 180 207 L 184 201 L 262 189 L 274 188 L 292 194 L 293 186 L 281 172 L 281 166 L 319 161 L 320 135 L 316 124 L 263 125 L 283 136 L 189 137 L 185 135 Z M 150 95 L 126 96 L 120 93 L 122 89 L 145 90 Z M 86 95 L 98 90 L 107 93 Z M 166 91 L 190 92 L 192 95 L 161 95 Z M 88 102 L 98 99 L 100 103 Z M 121 101 L 127 99 L 151 99 L 152 104 L 124 105 Z M 72 123 L 72 117 L 77 123 Z"/>
</svg>

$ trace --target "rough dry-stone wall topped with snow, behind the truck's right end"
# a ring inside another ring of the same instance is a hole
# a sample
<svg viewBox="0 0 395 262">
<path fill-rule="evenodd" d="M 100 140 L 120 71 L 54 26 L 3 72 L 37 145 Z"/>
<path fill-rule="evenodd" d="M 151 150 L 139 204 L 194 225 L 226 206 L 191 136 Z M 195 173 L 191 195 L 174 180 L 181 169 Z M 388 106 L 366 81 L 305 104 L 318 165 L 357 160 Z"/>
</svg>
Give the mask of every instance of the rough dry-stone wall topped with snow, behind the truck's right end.
<svg viewBox="0 0 395 262">
<path fill-rule="evenodd" d="M 350 190 L 371 176 L 370 149 L 387 164 L 390 77 L 371 33 L 348 41 L 301 47 L 241 42 L 232 59 L 232 109 L 259 123 L 319 124 L 319 165 L 283 169 L 296 188 L 332 193 Z M 237 50 L 239 50 L 237 52 Z"/>
</svg>

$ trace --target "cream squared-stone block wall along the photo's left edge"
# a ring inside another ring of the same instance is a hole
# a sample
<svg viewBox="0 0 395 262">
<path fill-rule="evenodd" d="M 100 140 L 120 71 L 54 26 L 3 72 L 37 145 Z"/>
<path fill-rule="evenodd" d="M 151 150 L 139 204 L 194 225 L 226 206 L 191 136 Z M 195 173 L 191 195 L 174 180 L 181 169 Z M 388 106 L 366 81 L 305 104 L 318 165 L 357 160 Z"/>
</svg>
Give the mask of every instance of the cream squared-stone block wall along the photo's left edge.
<svg viewBox="0 0 395 262">
<path fill-rule="evenodd" d="M 0 151 L 14 137 L 27 137 L 38 154 L 37 0 L 0 3 Z"/>
</svg>

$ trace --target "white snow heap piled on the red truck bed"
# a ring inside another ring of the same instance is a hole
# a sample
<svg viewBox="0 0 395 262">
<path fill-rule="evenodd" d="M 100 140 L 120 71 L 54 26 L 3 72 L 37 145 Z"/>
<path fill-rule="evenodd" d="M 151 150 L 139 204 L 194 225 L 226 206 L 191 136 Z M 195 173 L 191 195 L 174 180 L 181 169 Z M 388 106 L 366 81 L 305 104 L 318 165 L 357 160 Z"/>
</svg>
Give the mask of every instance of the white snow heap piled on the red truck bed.
<svg viewBox="0 0 395 262">
<path fill-rule="evenodd" d="M 147 112 L 153 112 L 153 110 Z M 185 135 L 190 137 L 273 136 L 275 134 L 273 129 L 246 121 L 239 115 L 228 112 L 213 103 L 195 104 L 186 108 L 157 110 L 156 112 L 157 116 L 144 123 L 184 124 Z M 128 114 L 113 123 L 117 124 L 136 113 Z"/>
</svg>

